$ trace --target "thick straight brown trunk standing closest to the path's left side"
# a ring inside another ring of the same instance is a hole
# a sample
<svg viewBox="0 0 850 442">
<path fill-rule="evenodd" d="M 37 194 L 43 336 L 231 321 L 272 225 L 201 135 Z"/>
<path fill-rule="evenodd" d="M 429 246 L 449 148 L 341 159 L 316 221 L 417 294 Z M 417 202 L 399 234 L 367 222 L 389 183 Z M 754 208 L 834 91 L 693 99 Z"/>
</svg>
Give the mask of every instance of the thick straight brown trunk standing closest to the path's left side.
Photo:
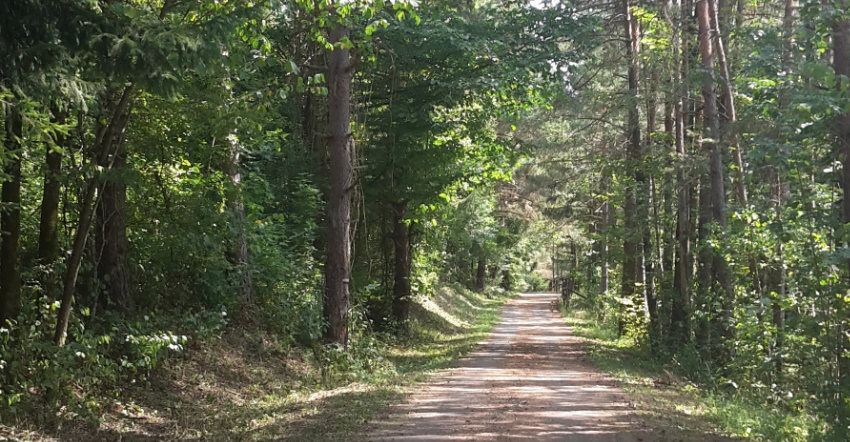
<svg viewBox="0 0 850 442">
<path fill-rule="evenodd" d="M 336 25 L 330 33 L 335 47 L 328 56 L 328 131 L 331 189 L 328 196 L 328 256 L 325 266 L 325 340 L 348 343 L 348 297 L 351 278 L 351 186 L 354 180 L 351 135 L 351 78 L 349 50 L 340 43 L 349 30 Z"/>
</svg>

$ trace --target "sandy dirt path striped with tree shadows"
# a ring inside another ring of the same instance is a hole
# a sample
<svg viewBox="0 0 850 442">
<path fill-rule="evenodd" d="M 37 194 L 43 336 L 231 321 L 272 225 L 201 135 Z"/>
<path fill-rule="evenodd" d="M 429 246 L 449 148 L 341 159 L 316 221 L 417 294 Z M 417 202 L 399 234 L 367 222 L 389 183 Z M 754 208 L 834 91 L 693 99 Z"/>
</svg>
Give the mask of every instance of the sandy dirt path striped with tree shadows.
<svg viewBox="0 0 850 442">
<path fill-rule="evenodd" d="M 581 341 L 523 294 L 457 368 L 444 370 L 364 431 L 369 441 L 659 440 L 616 383 L 584 361 Z"/>
</svg>

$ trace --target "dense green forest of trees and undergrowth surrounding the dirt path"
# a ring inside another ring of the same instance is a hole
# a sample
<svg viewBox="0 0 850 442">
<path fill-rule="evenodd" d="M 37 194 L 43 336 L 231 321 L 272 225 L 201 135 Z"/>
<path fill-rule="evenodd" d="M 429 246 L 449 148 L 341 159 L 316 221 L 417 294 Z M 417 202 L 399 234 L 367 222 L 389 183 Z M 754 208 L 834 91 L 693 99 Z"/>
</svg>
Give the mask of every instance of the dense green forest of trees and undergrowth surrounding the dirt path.
<svg viewBox="0 0 850 442">
<path fill-rule="evenodd" d="M 0 104 L 0 439 L 119 440 L 225 349 L 322 416 L 558 292 L 772 416 L 713 433 L 850 440 L 850 0 L 5 0 Z M 306 425 L 243 402 L 154 437 Z"/>
</svg>

